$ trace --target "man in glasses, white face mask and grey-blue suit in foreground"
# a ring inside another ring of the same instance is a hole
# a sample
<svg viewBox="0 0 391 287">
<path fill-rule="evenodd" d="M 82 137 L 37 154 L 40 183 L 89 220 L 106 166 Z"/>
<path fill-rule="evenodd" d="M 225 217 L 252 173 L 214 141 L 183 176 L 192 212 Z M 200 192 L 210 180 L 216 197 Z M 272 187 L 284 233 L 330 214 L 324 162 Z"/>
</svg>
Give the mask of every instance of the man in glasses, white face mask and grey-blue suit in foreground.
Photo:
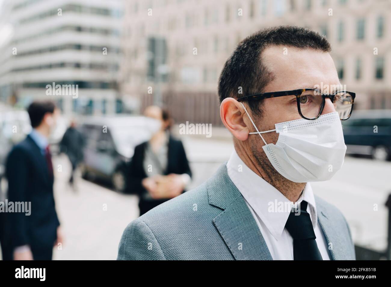
<svg viewBox="0 0 391 287">
<path fill-rule="evenodd" d="M 344 216 L 309 184 L 341 168 L 341 120 L 355 98 L 339 88 L 330 50 L 295 26 L 240 42 L 219 79 L 235 152 L 206 183 L 128 225 L 118 259 L 354 260 Z"/>
</svg>

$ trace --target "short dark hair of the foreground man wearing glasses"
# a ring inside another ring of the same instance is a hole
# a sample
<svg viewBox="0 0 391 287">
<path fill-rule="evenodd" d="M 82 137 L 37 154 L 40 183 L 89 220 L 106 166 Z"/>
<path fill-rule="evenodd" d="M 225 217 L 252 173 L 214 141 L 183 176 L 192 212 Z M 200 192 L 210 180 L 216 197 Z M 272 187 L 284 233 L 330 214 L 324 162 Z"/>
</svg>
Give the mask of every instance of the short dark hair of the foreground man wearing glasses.
<svg viewBox="0 0 391 287">
<path fill-rule="evenodd" d="M 225 62 L 219 78 L 220 102 L 229 97 L 238 99 L 263 92 L 275 76 L 267 70 L 261 58 L 262 51 L 271 45 L 331 51 L 325 36 L 307 28 L 279 26 L 260 30 L 242 40 Z M 242 87 L 242 94 L 238 94 L 239 87 Z M 255 114 L 259 112 L 262 102 L 248 103 L 251 111 Z"/>
</svg>

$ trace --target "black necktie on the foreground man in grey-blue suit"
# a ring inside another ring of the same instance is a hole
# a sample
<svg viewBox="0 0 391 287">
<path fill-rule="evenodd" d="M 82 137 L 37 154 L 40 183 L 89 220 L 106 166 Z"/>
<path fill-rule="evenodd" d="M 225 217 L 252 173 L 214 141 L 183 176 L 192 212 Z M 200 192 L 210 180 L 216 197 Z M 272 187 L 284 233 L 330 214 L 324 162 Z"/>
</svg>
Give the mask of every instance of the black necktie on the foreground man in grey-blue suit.
<svg viewBox="0 0 391 287">
<path fill-rule="evenodd" d="M 293 260 L 323 260 L 316 244 L 316 236 L 310 215 L 307 212 L 307 201 L 300 203 L 300 215 L 291 210 L 285 228 L 293 238 Z"/>
</svg>

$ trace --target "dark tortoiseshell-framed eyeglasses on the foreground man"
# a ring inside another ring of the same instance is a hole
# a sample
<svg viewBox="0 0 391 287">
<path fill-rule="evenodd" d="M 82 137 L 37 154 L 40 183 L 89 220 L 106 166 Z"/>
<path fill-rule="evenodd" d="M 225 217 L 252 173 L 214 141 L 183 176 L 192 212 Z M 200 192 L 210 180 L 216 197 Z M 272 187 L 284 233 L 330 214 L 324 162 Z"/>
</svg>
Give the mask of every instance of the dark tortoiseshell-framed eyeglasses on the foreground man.
<svg viewBox="0 0 391 287">
<path fill-rule="evenodd" d="M 297 109 L 300 116 L 310 120 L 319 118 L 325 107 L 326 98 L 329 98 L 334 103 L 335 111 L 338 112 L 339 118 L 344 121 L 352 114 L 356 94 L 348 91 L 336 91 L 334 94 L 321 94 L 319 89 L 306 88 L 292 91 L 252 94 L 239 98 L 238 101 L 264 100 L 282 96 L 296 96 Z"/>
</svg>

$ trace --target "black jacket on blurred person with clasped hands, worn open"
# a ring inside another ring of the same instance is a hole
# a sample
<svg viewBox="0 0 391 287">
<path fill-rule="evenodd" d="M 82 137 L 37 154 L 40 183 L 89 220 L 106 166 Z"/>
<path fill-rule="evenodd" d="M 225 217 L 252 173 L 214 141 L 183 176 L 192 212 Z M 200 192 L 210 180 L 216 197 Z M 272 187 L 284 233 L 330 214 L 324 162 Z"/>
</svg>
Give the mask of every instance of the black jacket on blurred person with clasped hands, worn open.
<svg viewBox="0 0 391 287">
<path fill-rule="evenodd" d="M 140 196 L 147 192 L 141 184 L 142 180 L 147 177 L 143 166 L 146 148 L 147 142 L 136 146 L 129 168 L 128 191 Z M 182 142 L 174 139 L 171 135 L 169 136 L 167 168 L 164 175 L 169 175 L 170 173 L 187 173 L 190 177 L 192 176 Z"/>
</svg>

